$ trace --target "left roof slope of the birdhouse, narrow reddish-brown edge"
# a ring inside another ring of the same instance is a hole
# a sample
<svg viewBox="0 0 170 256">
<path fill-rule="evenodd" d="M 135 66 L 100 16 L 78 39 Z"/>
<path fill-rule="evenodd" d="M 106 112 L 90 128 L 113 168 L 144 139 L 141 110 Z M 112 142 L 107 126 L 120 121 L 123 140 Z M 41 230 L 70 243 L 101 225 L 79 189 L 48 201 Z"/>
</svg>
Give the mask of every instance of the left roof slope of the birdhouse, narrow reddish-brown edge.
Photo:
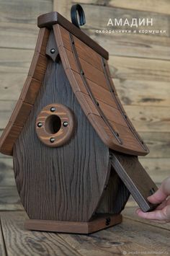
<svg viewBox="0 0 170 256">
<path fill-rule="evenodd" d="M 48 35 L 48 29 L 40 29 L 35 54 L 32 59 L 27 80 L 24 83 L 24 87 L 20 94 L 17 105 L 12 112 L 9 123 L 4 129 L 4 132 L 0 138 L 0 151 L 2 154 L 12 155 L 14 143 L 21 133 L 24 123 L 30 115 L 32 105 L 34 104 L 39 92 L 48 62 L 48 58 L 45 56 Z"/>
</svg>

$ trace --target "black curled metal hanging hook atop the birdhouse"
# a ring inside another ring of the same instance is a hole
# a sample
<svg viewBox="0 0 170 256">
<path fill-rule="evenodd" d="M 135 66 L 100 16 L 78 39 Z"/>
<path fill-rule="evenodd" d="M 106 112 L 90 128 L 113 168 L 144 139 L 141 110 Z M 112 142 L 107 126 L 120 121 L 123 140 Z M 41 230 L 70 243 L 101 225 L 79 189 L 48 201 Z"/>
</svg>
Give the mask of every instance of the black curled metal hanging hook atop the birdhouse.
<svg viewBox="0 0 170 256">
<path fill-rule="evenodd" d="M 79 14 L 79 18 L 77 17 L 77 14 Z M 76 27 L 83 26 L 86 23 L 84 9 L 80 4 L 74 4 L 71 6 L 71 22 Z"/>
</svg>

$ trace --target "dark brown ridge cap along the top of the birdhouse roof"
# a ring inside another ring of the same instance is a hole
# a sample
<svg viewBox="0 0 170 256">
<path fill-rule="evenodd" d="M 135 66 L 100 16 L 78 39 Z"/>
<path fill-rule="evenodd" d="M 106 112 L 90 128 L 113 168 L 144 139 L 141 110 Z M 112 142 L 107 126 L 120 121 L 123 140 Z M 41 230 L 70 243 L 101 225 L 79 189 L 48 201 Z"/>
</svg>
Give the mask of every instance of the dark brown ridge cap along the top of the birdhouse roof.
<svg viewBox="0 0 170 256">
<path fill-rule="evenodd" d="M 109 53 L 107 52 L 107 50 L 104 50 L 104 48 L 98 45 L 98 43 L 92 40 L 88 35 L 86 35 L 78 27 L 69 22 L 68 19 L 64 18 L 58 12 L 49 12 L 37 18 L 38 27 L 48 27 L 51 29 L 55 24 L 59 24 L 62 27 L 65 27 L 66 30 L 71 32 L 71 34 L 75 35 L 76 37 L 78 37 L 86 45 L 89 45 L 90 48 L 94 49 L 101 56 L 103 56 L 106 59 L 109 58 Z"/>
</svg>

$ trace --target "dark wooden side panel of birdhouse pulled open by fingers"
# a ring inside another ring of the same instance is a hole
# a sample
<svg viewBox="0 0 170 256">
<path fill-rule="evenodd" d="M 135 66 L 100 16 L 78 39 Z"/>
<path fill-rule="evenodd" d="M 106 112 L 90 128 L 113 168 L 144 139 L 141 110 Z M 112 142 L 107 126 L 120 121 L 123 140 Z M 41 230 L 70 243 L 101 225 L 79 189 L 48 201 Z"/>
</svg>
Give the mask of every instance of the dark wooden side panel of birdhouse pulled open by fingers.
<svg viewBox="0 0 170 256">
<path fill-rule="evenodd" d="M 148 202 L 147 198 L 149 195 L 153 195 L 158 187 L 140 164 L 138 157 L 110 151 L 110 159 L 115 172 L 128 187 L 139 207 L 145 212 L 156 208 L 158 205 Z"/>
</svg>

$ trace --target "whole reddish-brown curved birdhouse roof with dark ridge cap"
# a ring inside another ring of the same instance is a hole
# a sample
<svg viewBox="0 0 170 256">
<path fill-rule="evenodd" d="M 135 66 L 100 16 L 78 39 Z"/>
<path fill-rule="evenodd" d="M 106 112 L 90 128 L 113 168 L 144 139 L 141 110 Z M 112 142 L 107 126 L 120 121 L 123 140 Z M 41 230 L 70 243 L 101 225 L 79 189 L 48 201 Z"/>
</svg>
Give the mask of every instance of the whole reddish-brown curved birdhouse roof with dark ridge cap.
<svg viewBox="0 0 170 256">
<path fill-rule="evenodd" d="M 67 19 L 52 12 L 38 18 L 40 32 L 27 80 L 0 140 L 0 151 L 12 155 L 42 85 L 48 65 L 50 30 L 76 99 L 99 137 L 110 149 L 146 155 L 148 148 L 130 122 L 117 96 L 107 63 L 108 53 Z"/>
</svg>

